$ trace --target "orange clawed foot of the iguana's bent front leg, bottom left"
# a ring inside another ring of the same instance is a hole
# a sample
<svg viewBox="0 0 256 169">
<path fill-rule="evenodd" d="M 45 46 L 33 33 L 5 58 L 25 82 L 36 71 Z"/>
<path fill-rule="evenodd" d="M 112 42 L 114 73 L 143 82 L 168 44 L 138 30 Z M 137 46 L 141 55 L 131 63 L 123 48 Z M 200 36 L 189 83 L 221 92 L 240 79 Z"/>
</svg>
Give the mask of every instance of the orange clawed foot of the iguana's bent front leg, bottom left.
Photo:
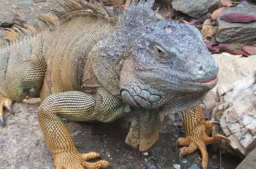
<svg viewBox="0 0 256 169">
<path fill-rule="evenodd" d="M 99 169 L 106 168 L 108 161 L 87 162 L 90 159 L 100 157 L 99 153 L 60 153 L 53 155 L 56 169 Z"/>
</svg>

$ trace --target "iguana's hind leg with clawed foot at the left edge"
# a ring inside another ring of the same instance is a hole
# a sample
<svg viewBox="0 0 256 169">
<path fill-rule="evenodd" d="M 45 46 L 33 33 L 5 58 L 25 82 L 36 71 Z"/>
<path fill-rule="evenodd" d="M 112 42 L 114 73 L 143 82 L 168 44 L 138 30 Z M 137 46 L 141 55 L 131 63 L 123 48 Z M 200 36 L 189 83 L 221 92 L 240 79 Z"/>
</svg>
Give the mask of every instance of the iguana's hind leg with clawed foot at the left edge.
<svg viewBox="0 0 256 169">
<path fill-rule="evenodd" d="M 31 57 L 6 75 L 5 81 L 0 86 L 0 121 L 3 121 L 4 107 L 14 114 L 11 109 L 13 101 L 22 101 L 28 95 L 39 97 L 46 64 L 43 59 Z"/>
</svg>

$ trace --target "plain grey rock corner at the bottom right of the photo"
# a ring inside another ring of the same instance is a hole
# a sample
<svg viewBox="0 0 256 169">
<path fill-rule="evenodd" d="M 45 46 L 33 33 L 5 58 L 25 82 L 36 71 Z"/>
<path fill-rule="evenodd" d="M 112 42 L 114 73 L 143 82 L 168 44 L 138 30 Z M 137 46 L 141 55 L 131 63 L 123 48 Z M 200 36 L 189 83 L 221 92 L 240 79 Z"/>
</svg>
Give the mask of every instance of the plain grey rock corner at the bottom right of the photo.
<svg viewBox="0 0 256 169">
<path fill-rule="evenodd" d="M 235 169 L 255 169 L 256 168 L 256 148 L 250 152 L 245 159 Z"/>
</svg>

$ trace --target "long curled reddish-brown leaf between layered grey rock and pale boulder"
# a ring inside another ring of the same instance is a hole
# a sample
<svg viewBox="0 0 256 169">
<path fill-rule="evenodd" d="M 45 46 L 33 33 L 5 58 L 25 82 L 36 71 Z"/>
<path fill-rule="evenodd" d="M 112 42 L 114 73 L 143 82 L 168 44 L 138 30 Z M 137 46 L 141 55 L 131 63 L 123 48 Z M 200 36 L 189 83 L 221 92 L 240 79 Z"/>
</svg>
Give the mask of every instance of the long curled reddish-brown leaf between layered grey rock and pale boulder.
<svg viewBox="0 0 256 169">
<path fill-rule="evenodd" d="M 208 50 L 213 53 L 220 53 L 220 52 L 230 52 L 232 54 L 240 54 L 244 56 L 251 56 L 249 53 L 245 52 L 244 50 L 237 49 L 237 45 L 235 44 L 218 44 L 213 42 L 204 42 Z"/>
</svg>

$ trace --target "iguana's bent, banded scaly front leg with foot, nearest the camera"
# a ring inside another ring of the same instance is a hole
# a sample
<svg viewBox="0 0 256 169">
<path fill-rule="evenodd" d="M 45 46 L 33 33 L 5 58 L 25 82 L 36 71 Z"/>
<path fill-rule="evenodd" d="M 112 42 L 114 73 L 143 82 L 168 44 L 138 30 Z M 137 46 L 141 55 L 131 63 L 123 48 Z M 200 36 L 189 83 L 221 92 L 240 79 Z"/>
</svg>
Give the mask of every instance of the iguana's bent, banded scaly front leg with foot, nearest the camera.
<svg viewBox="0 0 256 169">
<path fill-rule="evenodd" d="M 90 158 L 99 157 L 98 153 L 91 153 L 93 156 L 78 153 L 61 117 L 73 121 L 112 121 L 123 114 L 124 109 L 118 98 L 103 89 L 99 89 L 96 95 L 80 91 L 49 95 L 38 108 L 37 117 L 56 169 L 98 169 L 108 166 L 104 160 L 87 162 Z"/>
</svg>

